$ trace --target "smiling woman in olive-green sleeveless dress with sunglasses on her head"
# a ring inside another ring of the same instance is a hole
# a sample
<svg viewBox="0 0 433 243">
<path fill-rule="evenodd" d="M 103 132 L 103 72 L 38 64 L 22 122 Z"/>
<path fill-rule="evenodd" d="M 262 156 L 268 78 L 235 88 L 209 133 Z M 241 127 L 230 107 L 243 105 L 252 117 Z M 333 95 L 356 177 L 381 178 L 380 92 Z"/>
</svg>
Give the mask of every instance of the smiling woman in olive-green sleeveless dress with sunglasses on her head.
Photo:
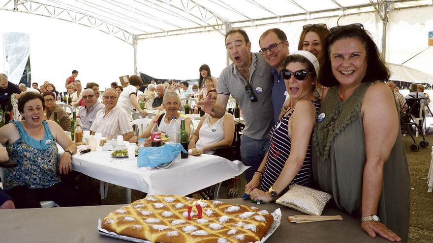
<svg viewBox="0 0 433 243">
<path fill-rule="evenodd" d="M 319 74 L 325 89 L 313 133 L 321 190 L 361 218 L 372 238 L 407 241 L 410 179 L 390 76 L 361 24 L 330 29 Z"/>
</svg>

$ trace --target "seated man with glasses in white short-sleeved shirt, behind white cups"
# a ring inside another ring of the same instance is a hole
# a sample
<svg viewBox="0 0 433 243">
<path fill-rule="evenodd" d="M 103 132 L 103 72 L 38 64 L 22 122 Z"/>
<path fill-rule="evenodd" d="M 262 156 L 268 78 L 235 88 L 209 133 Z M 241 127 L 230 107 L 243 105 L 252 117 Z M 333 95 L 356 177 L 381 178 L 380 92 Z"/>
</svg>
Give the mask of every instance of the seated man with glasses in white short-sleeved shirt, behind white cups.
<svg viewBox="0 0 433 243">
<path fill-rule="evenodd" d="M 124 140 L 128 141 L 134 133 L 129 121 L 130 114 L 120 107 L 117 107 L 118 94 L 116 90 L 108 88 L 102 95 L 105 108 L 101 109 L 93 121 L 90 134 L 102 133 L 105 137 L 117 137 L 123 135 Z"/>
</svg>

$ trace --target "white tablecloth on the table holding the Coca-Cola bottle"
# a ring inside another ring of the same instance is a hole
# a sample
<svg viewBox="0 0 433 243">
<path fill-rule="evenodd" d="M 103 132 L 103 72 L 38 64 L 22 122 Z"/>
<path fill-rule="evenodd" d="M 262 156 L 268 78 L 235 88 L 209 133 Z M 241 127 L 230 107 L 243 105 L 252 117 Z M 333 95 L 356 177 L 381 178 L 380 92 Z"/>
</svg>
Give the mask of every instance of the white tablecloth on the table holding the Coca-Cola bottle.
<svg viewBox="0 0 433 243">
<path fill-rule="evenodd" d="M 90 152 L 72 157 L 72 169 L 95 179 L 149 194 L 188 195 L 238 176 L 248 167 L 240 161 L 202 154 L 178 159 L 167 169 L 144 170 L 135 160 L 113 158 L 112 151 Z M 63 150 L 59 149 L 59 156 Z"/>
</svg>

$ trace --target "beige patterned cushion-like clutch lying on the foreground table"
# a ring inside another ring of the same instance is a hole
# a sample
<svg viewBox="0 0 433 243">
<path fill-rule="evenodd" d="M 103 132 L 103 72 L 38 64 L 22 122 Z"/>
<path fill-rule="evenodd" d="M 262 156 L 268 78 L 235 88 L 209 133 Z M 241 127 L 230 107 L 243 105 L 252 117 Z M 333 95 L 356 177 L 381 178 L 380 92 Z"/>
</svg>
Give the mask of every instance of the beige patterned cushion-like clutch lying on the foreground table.
<svg viewBox="0 0 433 243">
<path fill-rule="evenodd" d="M 276 202 L 308 215 L 321 215 L 331 198 L 329 193 L 293 184 Z"/>
</svg>

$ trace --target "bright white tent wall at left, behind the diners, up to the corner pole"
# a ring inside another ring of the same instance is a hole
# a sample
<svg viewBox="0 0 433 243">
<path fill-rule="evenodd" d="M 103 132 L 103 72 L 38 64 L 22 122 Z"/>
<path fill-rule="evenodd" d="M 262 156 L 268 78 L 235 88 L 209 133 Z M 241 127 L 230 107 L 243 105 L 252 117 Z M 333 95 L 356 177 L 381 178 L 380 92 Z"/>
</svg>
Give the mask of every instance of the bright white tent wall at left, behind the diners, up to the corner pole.
<svg viewBox="0 0 433 243">
<path fill-rule="evenodd" d="M 39 85 L 50 81 L 65 90 L 66 78 L 76 69 L 83 85 L 96 82 L 103 90 L 120 76 L 134 72 L 133 47 L 98 30 L 8 11 L 1 12 L 0 23 L 13 23 L 0 25 L 0 32 L 30 34 L 31 80 Z"/>
</svg>

